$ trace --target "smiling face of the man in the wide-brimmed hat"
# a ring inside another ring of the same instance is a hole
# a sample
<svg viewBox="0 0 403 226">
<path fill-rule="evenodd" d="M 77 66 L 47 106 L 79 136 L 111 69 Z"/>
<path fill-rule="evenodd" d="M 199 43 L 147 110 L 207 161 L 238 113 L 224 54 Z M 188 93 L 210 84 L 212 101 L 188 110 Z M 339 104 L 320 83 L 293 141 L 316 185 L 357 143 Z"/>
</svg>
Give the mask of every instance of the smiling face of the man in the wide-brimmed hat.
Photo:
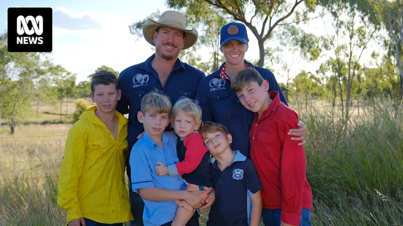
<svg viewBox="0 0 403 226">
<path fill-rule="evenodd" d="M 185 44 L 183 31 L 168 27 L 160 27 L 158 33 L 154 31 L 156 53 L 165 60 L 178 58 L 179 52 Z"/>
</svg>

